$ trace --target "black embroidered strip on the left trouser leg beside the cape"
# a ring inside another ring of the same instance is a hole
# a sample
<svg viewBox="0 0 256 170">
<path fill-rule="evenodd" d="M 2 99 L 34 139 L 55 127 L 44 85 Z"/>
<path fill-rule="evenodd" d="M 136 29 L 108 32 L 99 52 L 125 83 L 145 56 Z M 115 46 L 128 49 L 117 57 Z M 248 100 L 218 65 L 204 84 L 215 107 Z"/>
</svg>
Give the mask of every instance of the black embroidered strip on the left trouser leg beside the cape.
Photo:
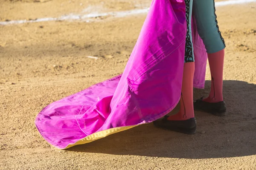
<svg viewBox="0 0 256 170">
<path fill-rule="evenodd" d="M 186 4 L 186 23 L 187 23 L 187 32 L 186 32 L 186 45 L 185 45 L 185 62 L 194 62 L 192 42 L 189 35 L 189 11 L 192 10 L 189 8 L 190 0 L 185 0 Z"/>
</svg>

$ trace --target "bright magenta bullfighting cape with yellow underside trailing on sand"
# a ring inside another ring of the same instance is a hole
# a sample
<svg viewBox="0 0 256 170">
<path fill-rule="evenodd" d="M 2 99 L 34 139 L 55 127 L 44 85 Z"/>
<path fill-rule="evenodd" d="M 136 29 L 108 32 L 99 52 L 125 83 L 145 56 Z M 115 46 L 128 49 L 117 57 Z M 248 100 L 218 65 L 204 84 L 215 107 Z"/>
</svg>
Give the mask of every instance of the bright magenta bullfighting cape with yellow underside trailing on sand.
<svg viewBox="0 0 256 170">
<path fill-rule="evenodd" d="M 204 88 L 207 53 L 196 30 L 193 21 L 194 87 Z M 38 131 L 66 149 L 163 117 L 180 100 L 185 39 L 184 0 L 153 0 L 123 74 L 48 105 Z"/>
</svg>

